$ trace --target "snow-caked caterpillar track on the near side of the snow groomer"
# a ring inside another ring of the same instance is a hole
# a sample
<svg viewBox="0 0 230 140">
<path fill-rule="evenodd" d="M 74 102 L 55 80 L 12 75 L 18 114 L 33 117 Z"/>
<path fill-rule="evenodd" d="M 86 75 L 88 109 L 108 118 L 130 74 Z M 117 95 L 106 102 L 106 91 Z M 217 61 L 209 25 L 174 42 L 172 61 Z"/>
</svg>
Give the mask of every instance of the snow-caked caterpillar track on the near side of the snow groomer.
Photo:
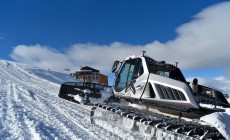
<svg viewBox="0 0 230 140">
<path fill-rule="evenodd" d="M 125 132 L 133 133 L 136 139 L 225 139 L 216 128 L 209 125 L 170 118 L 128 106 L 95 104 L 90 115 L 91 123 L 108 130 L 119 129 L 121 135 Z"/>
</svg>

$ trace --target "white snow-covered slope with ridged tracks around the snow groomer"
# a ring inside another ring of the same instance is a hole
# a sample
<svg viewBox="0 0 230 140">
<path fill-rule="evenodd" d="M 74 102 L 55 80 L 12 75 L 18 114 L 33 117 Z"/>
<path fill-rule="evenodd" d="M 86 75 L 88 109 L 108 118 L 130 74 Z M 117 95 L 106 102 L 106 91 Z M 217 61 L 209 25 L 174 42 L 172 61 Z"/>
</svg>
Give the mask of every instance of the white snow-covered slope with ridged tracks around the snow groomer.
<svg viewBox="0 0 230 140">
<path fill-rule="evenodd" d="M 65 81 L 74 80 L 62 73 L 0 60 L 0 139 L 135 139 L 120 130 L 94 126 L 90 106 L 59 98 L 60 84 Z M 229 114 L 227 110 L 202 120 L 229 139 Z"/>
</svg>

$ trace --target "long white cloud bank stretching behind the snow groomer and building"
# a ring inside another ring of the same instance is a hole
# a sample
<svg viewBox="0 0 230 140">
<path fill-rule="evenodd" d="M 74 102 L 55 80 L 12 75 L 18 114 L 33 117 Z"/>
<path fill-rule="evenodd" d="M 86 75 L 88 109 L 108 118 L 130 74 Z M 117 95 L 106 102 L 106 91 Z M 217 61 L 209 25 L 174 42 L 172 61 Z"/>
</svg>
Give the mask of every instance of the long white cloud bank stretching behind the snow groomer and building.
<svg viewBox="0 0 230 140">
<path fill-rule="evenodd" d="M 121 42 L 109 45 L 74 44 L 65 52 L 51 47 L 18 45 L 11 57 L 19 62 L 42 68 L 64 71 L 89 65 L 104 73 L 110 71 L 114 60 L 139 55 L 142 50 L 156 60 L 179 62 L 182 69 L 223 68 L 230 79 L 230 2 L 220 3 L 202 10 L 193 19 L 176 29 L 174 40 L 161 43 L 157 40 L 142 46 Z"/>
</svg>

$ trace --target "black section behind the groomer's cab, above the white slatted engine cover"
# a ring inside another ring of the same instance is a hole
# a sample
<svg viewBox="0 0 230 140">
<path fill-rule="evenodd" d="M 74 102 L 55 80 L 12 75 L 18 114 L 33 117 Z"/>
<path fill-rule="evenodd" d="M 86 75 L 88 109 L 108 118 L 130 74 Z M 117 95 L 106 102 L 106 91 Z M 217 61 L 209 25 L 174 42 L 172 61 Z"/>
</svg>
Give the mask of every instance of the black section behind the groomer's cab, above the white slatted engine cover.
<svg viewBox="0 0 230 140">
<path fill-rule="evenodd" d="M 146 63 L 150 73 L 178 80 L 181 82 L 186 82 L 180 69 L 173 65 L 165 64 L 165 62 L 156 62 L 150 58 L 146 58 Z"/>
</svg>

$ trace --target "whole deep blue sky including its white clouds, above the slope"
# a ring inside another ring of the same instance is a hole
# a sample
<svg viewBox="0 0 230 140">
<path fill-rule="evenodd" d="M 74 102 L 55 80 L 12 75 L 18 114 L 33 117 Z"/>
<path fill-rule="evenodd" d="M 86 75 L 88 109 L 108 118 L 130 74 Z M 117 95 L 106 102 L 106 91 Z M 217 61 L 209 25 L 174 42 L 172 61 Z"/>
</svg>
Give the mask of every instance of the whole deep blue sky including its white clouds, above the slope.
<svg viewBox="0 0 230 140">
<path fill-rule="evenodd" d="M 210 56 L 228 45 L 222 34 L 229 31 L 228 6 L 221 0 L 1 0 L 0 59 L 109 73 L 114 59 L 145 49 L 153 58 L 179 61 L 186 77 L 228 78 L 227 47 Z M 215 37 L 222 40 L 212 42 Z"/>
</svg>

